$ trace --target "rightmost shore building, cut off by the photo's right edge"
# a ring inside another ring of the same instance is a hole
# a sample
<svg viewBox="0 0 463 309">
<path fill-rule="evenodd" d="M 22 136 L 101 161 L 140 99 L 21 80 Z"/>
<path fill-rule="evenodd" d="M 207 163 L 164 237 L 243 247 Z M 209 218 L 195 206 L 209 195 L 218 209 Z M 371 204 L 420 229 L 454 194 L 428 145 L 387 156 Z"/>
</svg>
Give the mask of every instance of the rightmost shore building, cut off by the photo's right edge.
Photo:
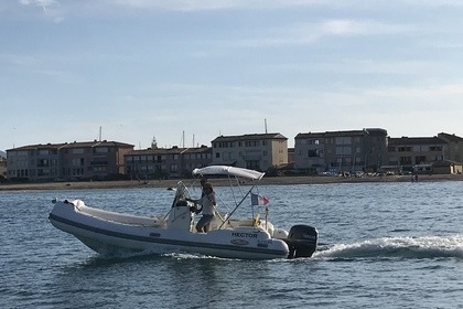
<svg viewBox="0 0 463 309">
<path fill-rule="evenodd" d="M 463 138 L 443 132 L 389 138 L 388 166 L 406 173 L 461 173 L 462 148 Z"/>
</svg>

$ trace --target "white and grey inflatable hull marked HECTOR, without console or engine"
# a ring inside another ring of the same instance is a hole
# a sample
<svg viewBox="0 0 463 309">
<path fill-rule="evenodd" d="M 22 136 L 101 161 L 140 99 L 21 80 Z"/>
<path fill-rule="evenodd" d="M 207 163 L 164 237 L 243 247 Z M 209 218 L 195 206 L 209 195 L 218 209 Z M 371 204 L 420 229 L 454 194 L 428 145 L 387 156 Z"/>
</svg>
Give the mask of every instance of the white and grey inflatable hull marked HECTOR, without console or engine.
<svg viewBox="0 0 463 309">
<path fill-rule="evenodd" d="M 114 220 L 91 215 L 115 214 L 83 205 L 82 201 L 56 202 L 50 213 L 51 223 L 82 241 L 100 254 L 120 252 L 196 253 L 226 258 L 270 259 L 287 258 L 289 247 L 282 239 L 271 238 L 267 231 L 252 226 L 214 230 L 208 233 L 191 232 L 171 225 L 162 226 L 157 219 L 118 214 Z M 137 223 L 138 220 L 138 223 Z M 150 221 L 153 222 L 150 226 Z"/>
</svg>

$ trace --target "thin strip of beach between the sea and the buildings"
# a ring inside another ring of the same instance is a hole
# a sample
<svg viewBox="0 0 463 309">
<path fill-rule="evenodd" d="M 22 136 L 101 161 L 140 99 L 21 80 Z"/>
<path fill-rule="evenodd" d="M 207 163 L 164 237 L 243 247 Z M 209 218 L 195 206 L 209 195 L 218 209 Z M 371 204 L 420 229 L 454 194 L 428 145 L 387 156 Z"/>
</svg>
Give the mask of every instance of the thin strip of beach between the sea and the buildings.
<svg viewBox="0 0 463 309">
<path fill-rule="evenodd" d="M 193 182 L 193 179 L 175 180 L 122 180 L 122 181 L 76 181 L 76 182 L 43 182 L 43 183 L 1 183 L 2 191 L 40 191 L 40 190 L 91 190 L 91 189 L 140 189 L 140 188 L 170 188 L 179 181 Z M 209 179 L 216 187 L 228 185 L 228 179 Z M 423 174 L 418 182 L 463 181 L 463 174 Z M 330 184 L 330 183 L 367 183 L 367 182 L 412 182 L 411 175 L 384 177 L 268 177 L 260 185 L 292 185 L 292 184 Z"/>
</svg>

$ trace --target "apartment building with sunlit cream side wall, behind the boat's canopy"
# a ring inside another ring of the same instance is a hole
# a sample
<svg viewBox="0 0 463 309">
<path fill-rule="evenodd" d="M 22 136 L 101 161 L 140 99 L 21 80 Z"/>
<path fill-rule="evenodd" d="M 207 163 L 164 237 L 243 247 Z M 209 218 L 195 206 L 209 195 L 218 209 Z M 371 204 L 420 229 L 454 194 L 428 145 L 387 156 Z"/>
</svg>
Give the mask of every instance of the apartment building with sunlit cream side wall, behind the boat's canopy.
<svg viewBox="0 0 463 309">
<path fill-rule="evenodd" d="M 288 138 L 281 134 L 219 136 L 212 141 L 213 164 L 268 171 L 288 163 Z"/>
</svg>

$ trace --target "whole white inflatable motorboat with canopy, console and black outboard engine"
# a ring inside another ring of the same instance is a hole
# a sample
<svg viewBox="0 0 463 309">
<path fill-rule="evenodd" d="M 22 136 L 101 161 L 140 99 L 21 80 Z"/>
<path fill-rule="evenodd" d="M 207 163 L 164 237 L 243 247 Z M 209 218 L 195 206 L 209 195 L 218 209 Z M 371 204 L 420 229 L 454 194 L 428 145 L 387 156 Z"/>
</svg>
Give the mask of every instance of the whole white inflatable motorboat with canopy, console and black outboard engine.
<svg viewBox="0 0 463 309">
<path fill-rule="evenodd" d="M 195 169 L 194 175 L 220 174 L 258 181 L 262 172 L 226 167 L 211 166 Z M 147 254 L 195 253 L 226 258 L 293 258 L 310 257 L 316 249 L 317 231 L 309 225 L 294 225 L 289 233 L 274 228 L 267 221 L 254 214 L 247 220 L 230 220 L 234 212 L 252 190 L 239 190 L 244 193 L 235 200 L 235 209 L 223 215 L 214 205 L 215 214 L 208 224 L 207 233 L 197 233 L 194 228 L 196 201 L 190 199 L 189 189 L 179 182 L 174 200 L 163 217 L 134 216 L 88 207 L 83 201 L 56 201 L 50 213 L 51 223 L 67 232 L 91 249 L 115 255 L 120 252 L 141 252 Z M 241 189 L 241 188 L 240 188 Z M 214 193 L 215 194 L 215 193 Z M 236 198 L 234 194 L 233 196 Z M 251 201 L 252 204 L 252 201 Z M 255 204 L 252 204 L 255 205 Z M 254 210 L 254 209 L 252 209 Z"/>
</svg>

